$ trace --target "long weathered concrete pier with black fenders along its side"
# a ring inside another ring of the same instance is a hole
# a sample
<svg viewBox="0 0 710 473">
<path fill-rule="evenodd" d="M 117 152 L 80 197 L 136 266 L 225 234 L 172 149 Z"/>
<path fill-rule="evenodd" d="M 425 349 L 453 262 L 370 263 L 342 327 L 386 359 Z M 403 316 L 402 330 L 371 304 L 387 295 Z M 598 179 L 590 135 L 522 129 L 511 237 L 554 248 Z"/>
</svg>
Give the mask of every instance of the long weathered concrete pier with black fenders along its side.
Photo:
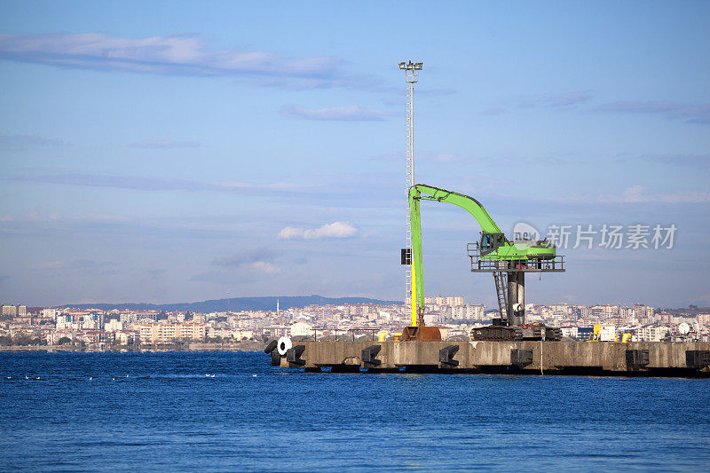
<svg viewBox="0 0 710 473">
<path fill-rule="evenodd" d="M 319 372 L 590 374 L 710 377 L 710 343 L 293 342 L 272 364 Z"/>
</svg>

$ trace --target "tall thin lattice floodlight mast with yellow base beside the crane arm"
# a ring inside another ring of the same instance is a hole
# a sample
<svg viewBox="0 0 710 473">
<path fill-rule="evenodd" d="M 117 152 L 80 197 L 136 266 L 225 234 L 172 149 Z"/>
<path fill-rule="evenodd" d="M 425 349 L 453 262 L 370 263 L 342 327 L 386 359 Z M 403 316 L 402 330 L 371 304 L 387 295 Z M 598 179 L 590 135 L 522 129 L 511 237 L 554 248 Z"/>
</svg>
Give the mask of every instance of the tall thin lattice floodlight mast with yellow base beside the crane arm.
<svg viewBox="0 0 710 473">
<path fill-rule="evenodd" d="M 409 188 L 414 185 L 414 83 L 419 80 L 422 62 L 402 61 L 399 68 L 405 71 L 406 90 L 406 249 L 412 254 L 412 227 L 409 223 Z M 406 296 L 412 304 L 412 327 L 417 326 L 416 274 L 414 264 L 406 272 Z"/>
</svg>

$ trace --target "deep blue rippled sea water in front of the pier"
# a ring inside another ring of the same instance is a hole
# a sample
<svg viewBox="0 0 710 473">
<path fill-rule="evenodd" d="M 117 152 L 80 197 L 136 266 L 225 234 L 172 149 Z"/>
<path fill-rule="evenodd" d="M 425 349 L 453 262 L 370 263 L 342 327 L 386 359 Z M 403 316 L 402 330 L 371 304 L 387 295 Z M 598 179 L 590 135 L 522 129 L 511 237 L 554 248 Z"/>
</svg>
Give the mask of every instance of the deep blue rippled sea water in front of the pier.
<svg viewBox="0 0 710 473">
<path fill-rule="evenodd" d="M 0 376 L 2 471 L 710 470 L 707 379 L 304 374 L 260 352 L 0 353 Z"/>
</svg>

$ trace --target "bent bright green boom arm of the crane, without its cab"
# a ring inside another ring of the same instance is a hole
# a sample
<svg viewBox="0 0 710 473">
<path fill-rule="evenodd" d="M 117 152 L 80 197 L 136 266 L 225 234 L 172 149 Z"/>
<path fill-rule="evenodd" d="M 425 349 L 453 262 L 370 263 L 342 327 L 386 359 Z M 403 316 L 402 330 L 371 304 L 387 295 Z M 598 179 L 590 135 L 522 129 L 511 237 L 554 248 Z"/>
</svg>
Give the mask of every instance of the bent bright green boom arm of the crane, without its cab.
<svg viewBox="0 0 710 473">
<path fill-rule="evenodd" d="M 431 185 L 417 184 L 409 188 L 409 220 L 412 228 L 412 268 L 414 270 L 414 287 L 416 296 L 413 297 L 418 305 L 418 315 L 423 319 L 424 311 L 424 275 L 422 262 L 422 218 L 419 209 L 419 202 L 439 201 L 452 203 L 461 209 L 466 210 L 476 218 L 478 225 L 484 233 L 502 233 L 501 229 L 488 215 L 484 206 L 473 197 L 462 193 L 454 193 L 446 189 L 440 189 Z M 414 295 L 413 295 L 414 296 Z"/>
</svg>

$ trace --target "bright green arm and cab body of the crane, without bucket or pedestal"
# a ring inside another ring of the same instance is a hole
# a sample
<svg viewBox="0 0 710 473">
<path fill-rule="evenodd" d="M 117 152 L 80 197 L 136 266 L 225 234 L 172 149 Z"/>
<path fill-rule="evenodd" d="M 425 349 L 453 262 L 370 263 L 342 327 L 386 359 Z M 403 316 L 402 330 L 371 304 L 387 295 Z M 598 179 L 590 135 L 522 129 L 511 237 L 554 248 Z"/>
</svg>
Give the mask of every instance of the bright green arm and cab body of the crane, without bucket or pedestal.
<svg viewBox="0 0 710 473">
<path fill-rule="evenodd" d="M 424 308 L 424 272 L 422 261 L 422 218 L 420 201 L 452 203 L 466 210 L 476 218 L 481 226 L 481 259 L 487 260 L 527 260 L 553 259 L 556 248 L 547 241 L 511 242 L 505 238 L 501 228 L 488 215 L 479 201 L 462 193 L 454 193 L 431 185 L 417 184 L 409 188 L 409 219 L 412 227 L 412 264 L 414 267 L 416 302 L 419 311 Z M 423 314 L 422 314 L 423 315 Z"/>
</svg>

